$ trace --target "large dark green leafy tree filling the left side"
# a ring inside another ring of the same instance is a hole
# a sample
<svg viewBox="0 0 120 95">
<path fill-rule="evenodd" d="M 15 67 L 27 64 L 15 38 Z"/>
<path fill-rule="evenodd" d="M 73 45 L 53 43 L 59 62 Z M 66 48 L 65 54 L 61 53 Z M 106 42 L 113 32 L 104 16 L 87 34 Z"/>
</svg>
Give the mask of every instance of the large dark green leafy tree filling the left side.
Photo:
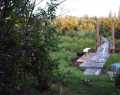
<svg viewBox="0 0 120 95">
<path fill-rule="evenodd" d="M 50 21 L 62 1 L 50 0 L 37 14 L 36 0 L 32 1 L 0 1 L 0 95 L 46 90 L 57 71 L 50 54 L 57 51 L 59 39 Z"/>
</svg>

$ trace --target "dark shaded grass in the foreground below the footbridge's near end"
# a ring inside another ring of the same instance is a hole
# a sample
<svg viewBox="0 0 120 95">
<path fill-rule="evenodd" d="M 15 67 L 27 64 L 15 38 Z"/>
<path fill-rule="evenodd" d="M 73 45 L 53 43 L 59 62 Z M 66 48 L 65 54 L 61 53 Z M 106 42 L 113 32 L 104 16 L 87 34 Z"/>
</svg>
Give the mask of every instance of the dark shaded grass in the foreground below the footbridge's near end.
<svg viewBox="0 0 120 95">
<path fill-rule="evenodd" d="M 68 92 L 73 91 L 75 95 L 111 95 L 114 92 L 113 83 L 107 77 L 100 77 L 102 80 L 99 77 L 92 77 L 93 82 L 91 84 L 69 79 L 67 81 Z"/>
</svg>

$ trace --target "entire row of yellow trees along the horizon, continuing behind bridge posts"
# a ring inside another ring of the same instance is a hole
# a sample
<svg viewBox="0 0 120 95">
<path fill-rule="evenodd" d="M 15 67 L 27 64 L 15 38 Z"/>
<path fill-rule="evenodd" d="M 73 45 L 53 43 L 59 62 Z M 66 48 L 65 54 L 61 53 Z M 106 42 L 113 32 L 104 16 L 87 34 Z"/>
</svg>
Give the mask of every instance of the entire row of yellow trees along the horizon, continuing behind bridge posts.
<svg viewBox="0 0 120 95">
<path fill-rule="evenodd" d="M 59 24 L 61 31 L 79 31 L 79 30 L 95 30 L 96 21 L 100 23 L 101 32 L 110 33 L 112 20 L 115 22 L 115 28 L 120 28 L 120 18 L 116 17 L 76 17 L 76 16 L 60 16 L 54 21 Z"/>
</svg>

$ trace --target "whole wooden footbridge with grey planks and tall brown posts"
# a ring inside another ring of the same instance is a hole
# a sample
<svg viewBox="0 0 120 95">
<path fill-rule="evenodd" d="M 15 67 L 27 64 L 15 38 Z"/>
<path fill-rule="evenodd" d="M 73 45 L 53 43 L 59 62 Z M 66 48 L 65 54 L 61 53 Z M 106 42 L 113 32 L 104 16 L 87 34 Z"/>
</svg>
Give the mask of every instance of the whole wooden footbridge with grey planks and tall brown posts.
<svg viewBox="0 0 120 95">
<path fill-rule="evenodd" d="M 99 75 L 110 53 L 115 52 L 114 45 L 114 21 L 112 21 L 112 36 L 109 40 L 99 36 L 99 23 L 96 23 L 95 52 L 83 55 L 76 63 L 79 69 L 84 70 L 85 75 Z"/>
</svg>

